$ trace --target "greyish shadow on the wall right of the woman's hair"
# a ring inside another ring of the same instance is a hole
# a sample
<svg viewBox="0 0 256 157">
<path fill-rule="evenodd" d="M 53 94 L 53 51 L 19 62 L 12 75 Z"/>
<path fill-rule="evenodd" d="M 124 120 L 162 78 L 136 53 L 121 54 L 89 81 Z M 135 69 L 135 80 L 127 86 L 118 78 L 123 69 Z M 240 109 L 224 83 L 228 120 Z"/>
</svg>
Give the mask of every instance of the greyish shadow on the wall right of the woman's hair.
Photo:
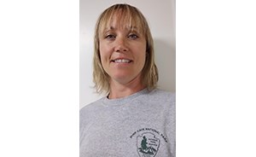
<svg viewBox="0 0 256 157">
<path fill-rule="evenodd" d="M 159 71 L 158 87 L 161 90 L 176 91 L 175 45 L 154 38 L 154 56 Z"/>
</svg>

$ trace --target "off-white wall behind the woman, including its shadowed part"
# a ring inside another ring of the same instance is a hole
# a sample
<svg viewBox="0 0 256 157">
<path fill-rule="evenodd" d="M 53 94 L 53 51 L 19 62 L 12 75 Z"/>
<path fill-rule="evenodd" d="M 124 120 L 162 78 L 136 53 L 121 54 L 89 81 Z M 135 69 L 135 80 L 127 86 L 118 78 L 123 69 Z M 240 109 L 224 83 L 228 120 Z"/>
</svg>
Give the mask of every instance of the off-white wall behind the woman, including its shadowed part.
<svg viewBox="0 0 256 157">
<path fill-rule="evenodd" d="M 114 3 L 129 3 L 143 12 L 154 38 L 159 88 L 175 91 L 175 0 L 80 0 L 80 108 L 102 97 L 92 88 L 94 27 L 102 11 Z"/>
</svg>

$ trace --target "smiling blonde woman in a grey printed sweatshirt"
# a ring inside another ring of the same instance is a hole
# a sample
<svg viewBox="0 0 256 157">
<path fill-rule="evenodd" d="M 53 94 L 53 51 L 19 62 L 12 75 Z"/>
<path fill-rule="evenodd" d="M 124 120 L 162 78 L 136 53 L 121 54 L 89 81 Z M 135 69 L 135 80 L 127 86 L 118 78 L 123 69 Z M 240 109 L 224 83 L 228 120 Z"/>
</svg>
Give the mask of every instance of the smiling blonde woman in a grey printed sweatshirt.
<svg viewBox="0 0 256 157">
<path fill-rule="evenodd" d="M 175 96 L 156 89 L 153 38 L 137 8 L 100 15 L 93 78 L 106 97 L 80 110 L 80 157 L 175 156 Z"/>
</svg>

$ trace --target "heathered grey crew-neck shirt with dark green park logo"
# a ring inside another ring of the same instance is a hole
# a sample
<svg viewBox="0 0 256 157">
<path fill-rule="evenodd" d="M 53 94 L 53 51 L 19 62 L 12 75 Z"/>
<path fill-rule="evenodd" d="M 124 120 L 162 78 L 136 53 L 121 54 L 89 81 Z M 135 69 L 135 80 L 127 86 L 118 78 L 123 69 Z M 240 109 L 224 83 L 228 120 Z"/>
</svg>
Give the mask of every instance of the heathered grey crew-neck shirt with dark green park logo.
<svg viewBox="0 0 256 157">
<path fill-rule="evenodd" d="M 80 157 L 175 157 L 175 94 L 141 90 L 80 110 Z"/>
</svg>

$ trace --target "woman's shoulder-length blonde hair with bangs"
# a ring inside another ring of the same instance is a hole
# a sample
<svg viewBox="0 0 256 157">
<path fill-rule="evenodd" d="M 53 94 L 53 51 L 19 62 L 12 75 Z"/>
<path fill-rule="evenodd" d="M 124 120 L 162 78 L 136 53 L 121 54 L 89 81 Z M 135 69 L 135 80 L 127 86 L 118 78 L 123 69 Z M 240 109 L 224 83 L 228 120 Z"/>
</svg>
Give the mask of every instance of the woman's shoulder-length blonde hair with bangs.
<svg viewBox="0 0 256 157">
<path fill-rule="evenodd" d="M 135 7 L 129 4 L 115 4 L 104 10 L 96 22 L 95 38 L 94 38 L 94 57 L 93 57 L 93 82 L 98 93 L 110 91 L 108 73 L 102 67 L 100 56 L 100 36 L 103 29 L 109 25 L 113 19 L 114 13 L 119 11 L 120 22 L 129 22 L 130 26 L 136 26 L 139 32 L 142 32 L 146 38 L 146 61 L 142 70 L 142 84 L 153 90 L 156 88 L 158 81 L 158 70 L 154 63 L 154 44 L 153 38 L 148 26 L 148 22 L 143 14 Z"/>
</svg>

